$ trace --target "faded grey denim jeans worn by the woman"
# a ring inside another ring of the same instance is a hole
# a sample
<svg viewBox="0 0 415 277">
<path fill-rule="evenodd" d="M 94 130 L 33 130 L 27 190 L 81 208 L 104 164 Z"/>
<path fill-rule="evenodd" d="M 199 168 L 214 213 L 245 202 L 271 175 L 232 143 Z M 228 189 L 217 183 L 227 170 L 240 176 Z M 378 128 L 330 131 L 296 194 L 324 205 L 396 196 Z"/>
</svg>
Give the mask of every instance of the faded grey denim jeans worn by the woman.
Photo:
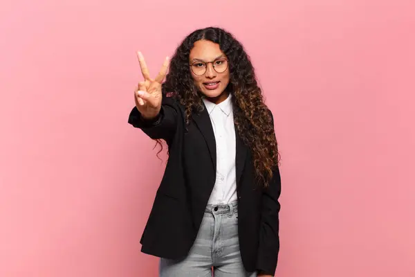
<svg viewBox="0 0 415 277">
<path fill-rule="evenodd" d="M 256 277 L 242 265 L 238 240 L 238 206 L 208 205 L 199 233 L 183 260 L 160 258 L 160 277 Z"/>
</svg>

